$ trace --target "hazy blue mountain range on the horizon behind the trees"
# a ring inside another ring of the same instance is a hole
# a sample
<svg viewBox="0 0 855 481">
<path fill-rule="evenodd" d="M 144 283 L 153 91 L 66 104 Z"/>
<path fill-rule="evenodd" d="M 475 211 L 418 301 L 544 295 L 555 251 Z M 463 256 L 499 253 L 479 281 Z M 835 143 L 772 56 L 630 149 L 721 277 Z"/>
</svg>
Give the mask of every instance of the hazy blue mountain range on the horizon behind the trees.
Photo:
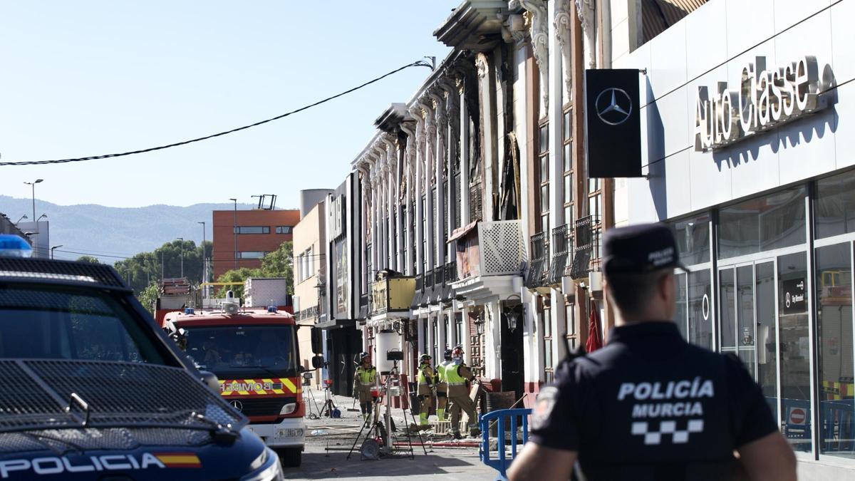
<svg viewBox="0 0 855 481">
<path fill-rule="evenodd" d="M 238 204 L 239 210 L 255 207 Z M 147 205 L 145 207 L 107 207 L 96 204 L 56 205 L 36 199 L 36 216 L 47 215 L 50 246 L 59 246 L 55 257 L 76 259 L 83 255 L 113 264 L 139 252 L 149 252 L 166 242 L 183 237 L 187 241 L 212 238 L 212 211 L 232 210 L 234 204 Z M 32 217 L 32 199 L 0 195 L 0 213 L 15 223 L 23 215 Z M 27 222 L 26 219 L 22 222 Z"/>
</svg>

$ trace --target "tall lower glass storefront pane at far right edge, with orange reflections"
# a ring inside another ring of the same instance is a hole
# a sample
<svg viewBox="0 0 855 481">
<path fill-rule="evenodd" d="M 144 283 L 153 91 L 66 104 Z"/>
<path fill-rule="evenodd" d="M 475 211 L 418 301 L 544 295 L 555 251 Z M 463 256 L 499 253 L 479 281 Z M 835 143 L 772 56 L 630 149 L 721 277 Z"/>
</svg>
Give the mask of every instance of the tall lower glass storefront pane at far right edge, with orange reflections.
<svg viewBox="0 0 855 481">
<path fill-rule="evenodd" d="M 852 355 L 852 248 L 817 248 L 817 357 L 823 454 L 855 458 Z"/>
</svg>

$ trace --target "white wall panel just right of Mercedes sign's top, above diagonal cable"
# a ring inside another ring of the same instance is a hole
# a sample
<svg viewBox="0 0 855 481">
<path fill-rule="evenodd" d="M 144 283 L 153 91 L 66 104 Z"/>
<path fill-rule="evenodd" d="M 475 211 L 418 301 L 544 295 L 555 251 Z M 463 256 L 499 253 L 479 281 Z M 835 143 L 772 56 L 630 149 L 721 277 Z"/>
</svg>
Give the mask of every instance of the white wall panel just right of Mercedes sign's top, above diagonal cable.
<svg viewBox="0 0 855 481">
<path fill-rule="evenodd" d="M 681 21 L 657 37 L 650 50 L 653 98 L 686 84 L 686 22 Z"/>
</svg>

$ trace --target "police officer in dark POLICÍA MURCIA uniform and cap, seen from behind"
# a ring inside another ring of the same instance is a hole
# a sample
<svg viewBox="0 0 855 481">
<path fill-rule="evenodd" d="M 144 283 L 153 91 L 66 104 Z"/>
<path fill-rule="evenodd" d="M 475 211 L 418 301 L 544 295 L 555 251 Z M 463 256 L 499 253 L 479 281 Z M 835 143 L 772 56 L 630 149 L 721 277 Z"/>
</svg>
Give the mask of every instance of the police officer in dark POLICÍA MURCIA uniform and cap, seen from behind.
<svg viewBox="0 0 855 481">
<path fill-rule="evenodd" d="M 663 224 L 605 234 L 616 327 L 540 390 L 510 479 L 568 479 L 576 460 L 588 481 L 795 479 L 793 450 L 745 367 L 688 344 L 670 321 L 678 255 Z"/>
</svg>

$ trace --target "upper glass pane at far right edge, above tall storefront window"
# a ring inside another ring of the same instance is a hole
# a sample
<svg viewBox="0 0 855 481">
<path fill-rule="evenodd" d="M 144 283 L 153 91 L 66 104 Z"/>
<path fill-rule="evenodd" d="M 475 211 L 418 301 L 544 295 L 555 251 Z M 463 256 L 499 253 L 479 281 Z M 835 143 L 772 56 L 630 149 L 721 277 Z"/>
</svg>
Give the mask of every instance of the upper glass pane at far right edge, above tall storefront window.
<svg viewBox="0 0 855 481">
<path fill-rule="evenodd" d="M 817 239 L 855 232 L 855 171 L 817 181 L 813 211 Z"/>
</svg>

